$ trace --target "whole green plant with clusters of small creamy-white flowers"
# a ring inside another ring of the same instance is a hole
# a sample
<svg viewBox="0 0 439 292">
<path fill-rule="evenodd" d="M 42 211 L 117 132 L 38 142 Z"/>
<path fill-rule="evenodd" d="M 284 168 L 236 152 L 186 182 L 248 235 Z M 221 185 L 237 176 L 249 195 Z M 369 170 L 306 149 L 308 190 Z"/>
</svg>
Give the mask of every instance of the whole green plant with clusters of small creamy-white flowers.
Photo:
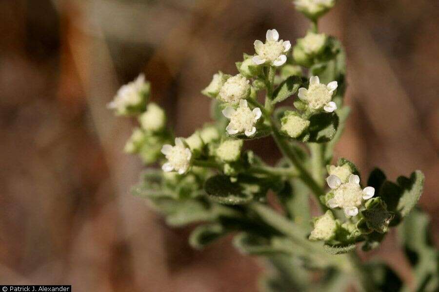
<svg viewBox="0 0 439 292">
<path fill-rule="evenodd" d="M 295 4 L 312 21 L 306 35 L 292 47 L 269 29 L 265 42 L 256 40 L 255 52 L 236 63 L 236 75 L 214 74 L 201 91 L 212 99 L 214 122 L 187 138 L 174 137 L 164 111 L 148 102 L 143 75 L 118 91 L 109 108 L 137 116 L 140 125 L 126 152 L 139 154 L 145 164 L 161 164 L 161 170 L 145 170 L 133 192 L 172 226 L 200 223 L 189 238 L 194 248 L 235 234 L 240 252 L 262 256 L 272 267 L 261 281 L 267 291 L 341 291 L 351 285 L 406 291 L 409 286 L 388 265 L 362 262 L 356 251 L 377 248 L 397 226 L 416 275 L 413 287 L 439 289 L 439 254 L 427 240 L 428 219 L 416 206 L 422 172 L 391 182 L 379 168 L 361 179 L 351 161 L 332 164 L 349 114 L 343 103 L 345 56 L 340 42 L 319 33 L 317 23 L 335 1 Z M 283 101 L 290 106 L 277 107 Z M 283 154 L 275 166 L 243 150 L 246 140 L 268 136 Z M 269 192 L 283 212 L 267 201 Z M 323 215 L 311 218 L 310 195 Z M 311 280 L 314 274 L 319 281 Z"/>
</svg>

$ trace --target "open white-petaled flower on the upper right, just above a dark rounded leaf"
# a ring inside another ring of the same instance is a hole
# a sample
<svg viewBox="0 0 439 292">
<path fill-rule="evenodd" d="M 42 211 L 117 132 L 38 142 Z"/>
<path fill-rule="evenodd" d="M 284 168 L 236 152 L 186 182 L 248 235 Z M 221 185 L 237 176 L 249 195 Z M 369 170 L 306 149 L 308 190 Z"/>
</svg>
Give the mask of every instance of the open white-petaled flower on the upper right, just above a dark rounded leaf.
<svg viewBox="0 0 439 292">
<path fill-rule="evenodd" d="M 329 82 L 328 85 L 320 84 L 318 76 L 309 78 L 309 86 L 299 88 L 298 96 L 308 103 L 311 110 L 323 108 L 327 112 L 337 110 L 337 105 L 332 100 L 332 94 L 337 89 L 337 81 Z"/>
</svg>

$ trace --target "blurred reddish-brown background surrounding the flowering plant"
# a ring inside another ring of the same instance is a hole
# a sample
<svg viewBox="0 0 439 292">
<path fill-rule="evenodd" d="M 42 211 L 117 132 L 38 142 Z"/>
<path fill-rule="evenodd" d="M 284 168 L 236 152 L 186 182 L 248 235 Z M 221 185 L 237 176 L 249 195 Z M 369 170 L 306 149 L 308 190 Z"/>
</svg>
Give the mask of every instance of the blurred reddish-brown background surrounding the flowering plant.
<svg viewBox="0 0 439 292">
<path fill-rule="evenodd" d="M 187 229 L 129 194 L 142 167 L 122 153 L 133 122 L 105 104 L 144 72 L 188 135 L 209 120 L 199 92 L 213 73 L 236 73 L 267 29 L 294 40 L 307 25 L 289 0 L 0 0 L 0 283 L 255 291 L 257 259 L 228 240 L 191 250 Z M 319 27 L 347 50 L 352 115 L 336 158 L 392 179 L 421 169 L 436 243 L 438 27 L 437 0 L 340 0 Z M 394 231 L 377 256 L 410 280 Z"/>
</svg>

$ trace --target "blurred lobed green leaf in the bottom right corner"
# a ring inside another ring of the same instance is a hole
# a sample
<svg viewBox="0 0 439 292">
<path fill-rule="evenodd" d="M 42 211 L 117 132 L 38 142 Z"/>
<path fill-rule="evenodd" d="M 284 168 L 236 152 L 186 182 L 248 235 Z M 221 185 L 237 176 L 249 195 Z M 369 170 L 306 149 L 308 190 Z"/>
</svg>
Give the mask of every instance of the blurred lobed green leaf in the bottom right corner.
<svg viewBox="0 0 439 292">
<path fill-rule="evenodd" d="M 415 272 L 415 290 L 405 287 L 404 292 L 439 290 L 439 251 L 432 243 L 429 223 L 428 216 L 415 208 L 399 227 L 400 241 Z"/>
</svg>

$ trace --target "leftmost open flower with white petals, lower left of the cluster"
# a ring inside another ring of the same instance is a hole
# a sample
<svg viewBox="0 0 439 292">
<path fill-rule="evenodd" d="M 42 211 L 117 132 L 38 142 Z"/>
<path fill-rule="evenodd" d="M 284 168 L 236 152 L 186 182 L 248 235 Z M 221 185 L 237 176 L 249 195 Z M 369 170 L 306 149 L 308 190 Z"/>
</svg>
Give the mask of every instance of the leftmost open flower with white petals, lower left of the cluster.
<svg viewBox="0 0 439 292">
<path fill-rule="evenodd" d="M 185 173 L 190 166 L 192 152 L 184 146 L 181 138 L 175 138 L 175 146 L 166 144 L 161 148 L 161 153 L 166 156 L 168 162 L 163 164 L 163 171 L 178 171 L 179 174 Z"/>
</svg>

